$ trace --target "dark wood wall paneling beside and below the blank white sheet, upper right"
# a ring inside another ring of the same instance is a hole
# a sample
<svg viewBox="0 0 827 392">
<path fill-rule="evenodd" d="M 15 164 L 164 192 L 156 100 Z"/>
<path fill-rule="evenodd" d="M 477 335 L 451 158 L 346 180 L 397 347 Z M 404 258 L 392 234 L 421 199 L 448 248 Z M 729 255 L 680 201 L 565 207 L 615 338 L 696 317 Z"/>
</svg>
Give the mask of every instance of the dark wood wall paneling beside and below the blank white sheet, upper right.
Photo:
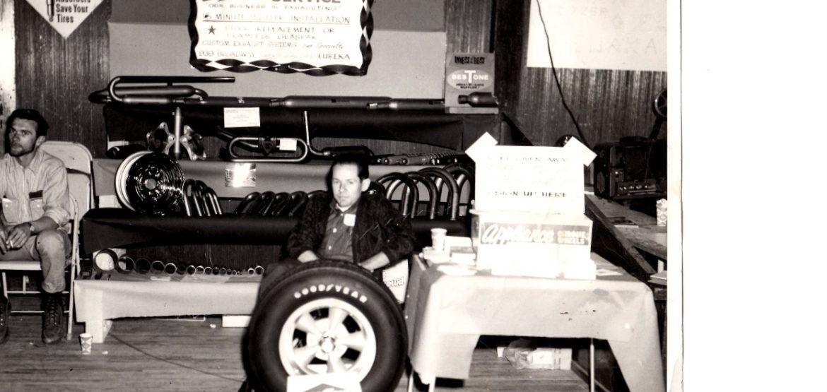
<svg viewBox="0 0 827 392">
<path fill-rule="evenodd" d="M 576 127 L 563 107 L 552 69 L 526 67 L 529 5 L 529 0 L 496 3 L 496 95 L 503 112 L 531 141 L 552 146 L 560 136 L 576 134 Z M 557 69 L 563 97 L 590 146 L 622 136 L 648 136 L 655 122 L 652 103 L 666 88 L 666 76 L 653 71 Z"/>
</svg>

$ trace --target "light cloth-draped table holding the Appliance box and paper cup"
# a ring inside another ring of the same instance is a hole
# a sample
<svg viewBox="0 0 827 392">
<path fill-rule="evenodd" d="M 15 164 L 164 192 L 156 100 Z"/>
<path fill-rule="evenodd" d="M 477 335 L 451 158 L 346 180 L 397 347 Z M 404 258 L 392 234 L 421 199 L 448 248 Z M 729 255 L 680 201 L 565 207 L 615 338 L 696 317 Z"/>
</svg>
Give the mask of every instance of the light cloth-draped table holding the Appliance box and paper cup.
<svg viewBox="0 0 827 392">
<path fill-rule="evenodd" d="M 480 335 L 609 342 L 632 392 L 665 390 L 652 291 L 592 254 L 597 280 L 449 275 L 414 257 L 405 318 L 414 372 L 467 379 Z M 609 275 L 613 274 L 613 275 Z"/>
</svg>

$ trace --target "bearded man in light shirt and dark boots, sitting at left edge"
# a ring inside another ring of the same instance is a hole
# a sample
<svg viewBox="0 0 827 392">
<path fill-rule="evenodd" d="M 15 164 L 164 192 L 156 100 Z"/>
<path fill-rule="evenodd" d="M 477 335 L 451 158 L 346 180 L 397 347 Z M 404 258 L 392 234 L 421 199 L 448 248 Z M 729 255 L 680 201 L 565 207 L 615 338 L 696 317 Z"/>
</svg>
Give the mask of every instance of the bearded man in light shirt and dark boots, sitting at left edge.
<svg viewBox="0 0 827 392">
<path fill-rule="evenodd" d="M 41 151 L 49 124 L 40 112 L 17 109 L 8 117 L 8 153 L 0 158 L 0 263 L 41 261 L 43 342 L 65 335 L 63 299 L 69 264 L 69 183 L 63 162 Z M 8 299 L 0 298 L 0 343 L 9 335 Z"/>
</svg>

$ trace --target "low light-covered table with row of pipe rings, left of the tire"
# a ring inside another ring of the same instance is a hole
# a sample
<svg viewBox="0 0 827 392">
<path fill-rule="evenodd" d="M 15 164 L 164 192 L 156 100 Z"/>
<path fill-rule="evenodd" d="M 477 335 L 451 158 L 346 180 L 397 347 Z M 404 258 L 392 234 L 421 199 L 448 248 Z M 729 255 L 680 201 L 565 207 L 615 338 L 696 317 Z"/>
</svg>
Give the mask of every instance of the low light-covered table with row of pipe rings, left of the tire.
<svg viewBox="0 0 827 392">
<path fill-rule="evenodd" d="M 75 280 L 75 312 L 92 342 L 102 343 L 114 318 L 196 314 L 250 314 L 261 276 L 114 275 L 113 280 Z M 117 279 L 117 280 L 114 280 Z M 224 280 L 224 281 L 222 281 Z"/>
</svg>

